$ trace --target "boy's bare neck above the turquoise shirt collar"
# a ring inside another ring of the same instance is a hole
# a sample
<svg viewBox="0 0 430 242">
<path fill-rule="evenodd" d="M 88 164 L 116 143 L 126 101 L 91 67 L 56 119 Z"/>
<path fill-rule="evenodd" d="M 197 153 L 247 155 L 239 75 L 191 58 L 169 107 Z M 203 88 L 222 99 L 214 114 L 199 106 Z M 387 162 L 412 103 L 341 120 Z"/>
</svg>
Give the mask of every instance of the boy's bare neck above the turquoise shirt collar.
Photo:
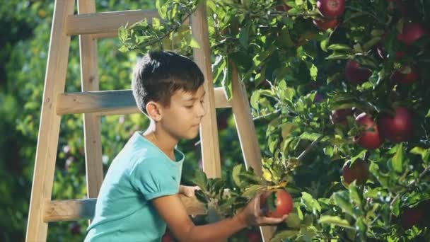
<svg viewBox="0 0 430 242">
<path fill-rule="evenodd" d="M 164 132 L 163 129 L 157 129 L 155 122 L 151 120 L 151 123 L 144 132 L 144 137 L 150 142 L 155 144 L 161 151 L 175 161 L 175 146 L 178 144 L 178 140 Z"/>
</svg>

